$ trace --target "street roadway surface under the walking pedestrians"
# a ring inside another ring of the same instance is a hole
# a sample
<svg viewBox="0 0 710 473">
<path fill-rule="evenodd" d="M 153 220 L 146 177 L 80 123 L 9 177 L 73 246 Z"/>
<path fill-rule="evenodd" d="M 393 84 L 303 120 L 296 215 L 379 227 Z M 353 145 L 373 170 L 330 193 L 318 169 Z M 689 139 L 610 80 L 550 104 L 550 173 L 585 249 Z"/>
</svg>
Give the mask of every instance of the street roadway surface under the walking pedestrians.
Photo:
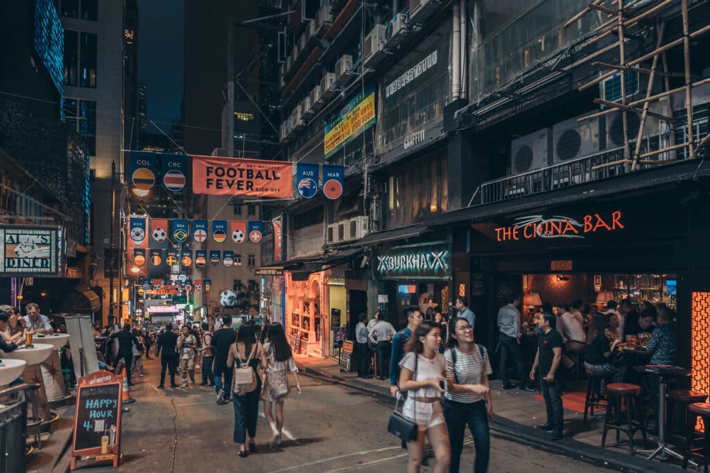
<svg viewBox="0 0 710 473">
<path fill-rule="evenodd" d="M 157 389 L 160 365 L 144 362 L 146 376 L 136 377 L 131 396 L 135 404 L 122 419 L 120 472 L 402 472 L 407 461 L 399 442 L 387 433 L 391 401 L 332 382 L 301 377 L 303 394 L 295 391 L 285 404 L 284 446 L 270 450 L 263 417 L 257 427 L 259 452 L 246 459 L 236 456 L 232 442 L 231 404 L 217 406 L 214 391 Z M 461 471 L 471 471 L 470 439 Z M 114 472 L 109 467 L 81 463 L 92 472 Z M 561 455 L 540 452 L 528 445 L 493 438 L 490 472 L 547 472 L 570 469 L 576 473 L 602 471 Z M 432 471 L 423 467 L 422 472 Z"/>
</svg>

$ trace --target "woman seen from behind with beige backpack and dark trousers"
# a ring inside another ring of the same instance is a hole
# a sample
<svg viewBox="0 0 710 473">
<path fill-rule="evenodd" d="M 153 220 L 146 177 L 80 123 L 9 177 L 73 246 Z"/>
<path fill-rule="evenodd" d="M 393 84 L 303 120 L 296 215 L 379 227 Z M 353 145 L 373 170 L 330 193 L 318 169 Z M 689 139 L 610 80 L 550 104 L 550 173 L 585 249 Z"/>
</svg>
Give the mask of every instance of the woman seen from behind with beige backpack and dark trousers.
<svg viewBox="0 0 710 473">
<path fill-rule="evenodd" d="M 236 331 L 236 342 L 229 347 L 227 367 L 234 368 L 232 377 L 232 406 L 234 407 L 234 443 L 239 445 L 239 457 L 246 457 L 246 435 L 249 433 L 249 451 L 256 453 L 256 420 L 259 416 L 259 394 L 261 393 L 261 375 L 258 367 L 261 363 L 263 347 L 256 340 L 253 323 L 244 323 Z M 239 370 L 249 369 L 249 376 L 244 382 Z"/>
</svg>

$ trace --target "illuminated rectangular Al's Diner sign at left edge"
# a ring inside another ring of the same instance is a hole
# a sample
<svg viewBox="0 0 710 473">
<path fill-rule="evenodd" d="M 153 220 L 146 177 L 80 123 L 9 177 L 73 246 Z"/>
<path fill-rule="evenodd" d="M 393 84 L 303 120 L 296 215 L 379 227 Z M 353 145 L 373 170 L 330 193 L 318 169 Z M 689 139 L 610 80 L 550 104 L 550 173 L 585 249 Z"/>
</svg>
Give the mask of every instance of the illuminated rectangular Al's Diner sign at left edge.
<svg viewBox="0 0 710 473">
<path fill-rule="evenodd" d="M 0 226 L 0 276 L 61 276 L 61 228 Z"/>
</svg>

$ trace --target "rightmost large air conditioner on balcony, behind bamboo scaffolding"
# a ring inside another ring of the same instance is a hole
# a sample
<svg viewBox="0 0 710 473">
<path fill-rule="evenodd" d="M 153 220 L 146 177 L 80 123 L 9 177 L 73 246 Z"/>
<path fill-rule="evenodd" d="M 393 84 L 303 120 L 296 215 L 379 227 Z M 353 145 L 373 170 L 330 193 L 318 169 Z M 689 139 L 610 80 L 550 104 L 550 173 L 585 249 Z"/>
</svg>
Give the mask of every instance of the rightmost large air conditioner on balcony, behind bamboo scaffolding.
<svg viewBox="0 0 710 473">
<path fill-rule="evenodd" d="M 639 106 L 639 108 L 641 108 L 641 106 Z M 667 97 L 662 97 L 658 101 L 651 102 L 648 106 L 648 110 L 659 113 L 662 116 L 672 116 L 672 111 L 670 110 Z M 635 143 L 636 138 L 638 138 L 638 128 L 640 125 L 640 113 L 635 111 L 626 112 L 627 136 L 633 143 Z M 670 143 L 667 143 L 667 141 L 670 140 L 667 133 L 669 129 L 670 127 L 666 121 L 647 115 L 641 138 L 658 136 L 663 140 L 663 143 L 660 143 L 663 146 L 660 146 L 660 148 L 665 148 L 667 145 L 670 145 Z M 621 113 L 621 111 L 617 111 L 606 117 L 606 148 L 621 148 L 623 145 L 623 113 Z"/>
</svg>

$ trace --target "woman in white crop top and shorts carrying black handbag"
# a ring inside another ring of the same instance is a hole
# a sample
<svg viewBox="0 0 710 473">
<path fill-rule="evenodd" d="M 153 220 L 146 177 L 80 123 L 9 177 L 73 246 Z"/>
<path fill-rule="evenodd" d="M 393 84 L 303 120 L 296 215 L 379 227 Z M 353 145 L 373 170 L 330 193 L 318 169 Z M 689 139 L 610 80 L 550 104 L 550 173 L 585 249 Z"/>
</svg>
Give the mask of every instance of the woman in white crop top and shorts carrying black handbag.
<svg viewBox="0 0 710 473">
<path fill-rule="evenodd" d="M 449 471 L 449 434 L 442 405 L 439 401 L 442 381 L 446 379 L 444 355 L 438 352 L 442 344 L 439 324 L 423 321 L 415 330 L 405 346 L 407 355 L 400 362 L 399 387 L 409 391 L 403 406 L 403 415 L 419 425 L 416 440 L 407 444 L 409 462 L 407 472 L 419 472 L 422 464 L 424 435 L 434 449 L 437 464 L 435 473 Z"/>
</svg>

